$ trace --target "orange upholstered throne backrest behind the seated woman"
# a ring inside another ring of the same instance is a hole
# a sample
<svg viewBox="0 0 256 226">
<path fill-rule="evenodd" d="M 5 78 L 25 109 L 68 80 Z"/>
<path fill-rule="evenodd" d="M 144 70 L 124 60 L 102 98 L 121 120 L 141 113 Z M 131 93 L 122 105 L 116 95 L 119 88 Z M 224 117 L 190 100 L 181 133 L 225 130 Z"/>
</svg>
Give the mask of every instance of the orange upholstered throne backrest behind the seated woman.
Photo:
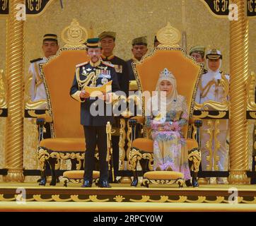
<svg viewBox="0 0 256 226">
<path fill-rule="evenodd" d="M 186 97 L 189 117 L 192 117 L 194 98 L 203 66 L 187 56 L 181 48 L 157 47 L 141 61 L 133 64 L 139 90 L 152 93 L 156 89 L 159 73 L 165 68 L 175 76 L 178 94 Z M 188 131 L 188 126 L 185 126 L 183 129 L 185 138 L 187 138 Z"/>
</svg>

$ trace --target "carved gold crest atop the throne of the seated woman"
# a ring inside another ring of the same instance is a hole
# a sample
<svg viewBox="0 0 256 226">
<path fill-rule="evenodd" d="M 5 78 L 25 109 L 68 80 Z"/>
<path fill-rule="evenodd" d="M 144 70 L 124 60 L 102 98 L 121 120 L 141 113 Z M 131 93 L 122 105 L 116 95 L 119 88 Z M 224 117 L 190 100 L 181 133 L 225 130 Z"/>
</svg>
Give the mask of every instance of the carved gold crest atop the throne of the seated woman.
<svg viewBox="0 0 256 226">
<path fill-rule="evenodd" d="M 180 42 L 181 34 L 178 29 L 168 23 L 165 28 L 161 28 L 157 32 L 156 37 L 162 46 L 179 47 L 177 43 Z M 161 45 L 159 46 L 161 47 Z"/>
</svg>

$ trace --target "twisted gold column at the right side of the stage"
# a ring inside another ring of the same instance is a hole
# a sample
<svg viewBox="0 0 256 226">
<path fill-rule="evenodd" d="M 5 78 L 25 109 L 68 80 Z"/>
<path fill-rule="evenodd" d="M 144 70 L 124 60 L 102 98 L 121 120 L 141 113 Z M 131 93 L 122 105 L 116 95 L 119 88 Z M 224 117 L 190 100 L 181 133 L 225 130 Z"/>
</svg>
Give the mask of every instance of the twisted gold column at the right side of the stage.
<svg viewBox="0 0 256 226">
<path fill-rule="evenodd" d="M 248 122 L 246 120 L 246 79 L 248 77 L 248 20 L 245 1 L 233 0 L 238 6 L 238 20 L 231 21 L 231 120 L 229 184 L 248 184 Z"/>
</svg>

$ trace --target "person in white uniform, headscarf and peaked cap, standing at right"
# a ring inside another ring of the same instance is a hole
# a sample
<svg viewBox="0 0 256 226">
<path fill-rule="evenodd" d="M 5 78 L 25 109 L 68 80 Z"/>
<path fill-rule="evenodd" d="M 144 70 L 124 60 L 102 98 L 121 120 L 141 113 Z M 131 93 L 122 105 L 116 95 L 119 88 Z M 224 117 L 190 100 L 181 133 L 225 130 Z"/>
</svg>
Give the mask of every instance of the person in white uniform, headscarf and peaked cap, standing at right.
<svg viewBox="0 0 256 226">
<path fill-rule="evenodd" d="M 197 90 L 196 102 L 203 104 L 206 101 L 213 100 L 216 102 L 223 102 L 226 97 L 224 96 L 223 85 L 221 84 L 221 74 L 224 78 L 229 81 L 229 76 L 220 71 L 222 55 L 219 50 L 211 49 L 206 53 L 206 66 L 208 71 L 203 73 L 202 80 L 199 83 Z M 213 107 L 208 107 L 209 110 L 214 110 Z M 207 124 L 208 120 L 203 120 L 202 133 L 201 133 L 201 153 L 202 153 L 202 170 L 211 171 L 219 170 L 226 171 L 228 169 L 228 150 L 226 146 L 226 138 L 228 135 L 228 120 L 220 119 L 219 125 L 216 123 L 217 119 L 212 120 L 213 131 L 212 131 L 212 143 L 210 135 L 207 132 L 211 128 Z M 219 141 L 219 142 L 218 142 Z M 208 142 L 208 143 L 207 143 Z M 207 148 L 206 145 L 209 145 Z M 213 153 L 211 160 L 207 160 L 209 157 L 209 149 L 212 148 Z M 214 153 L 214 151 L 216 153 Z M 214 155 L 219 157 L 219 161 L 214 160 Z M 216 161 L 216 162 L 214 162 Z M 207 165 L 212 162 L 211 169 L 207 169 Z M 214 167 L 216 165 L 217 167 Z M 223 184 L 223 179 L 220 177 L 216 178 L 217 184 Z"/>
</svg>

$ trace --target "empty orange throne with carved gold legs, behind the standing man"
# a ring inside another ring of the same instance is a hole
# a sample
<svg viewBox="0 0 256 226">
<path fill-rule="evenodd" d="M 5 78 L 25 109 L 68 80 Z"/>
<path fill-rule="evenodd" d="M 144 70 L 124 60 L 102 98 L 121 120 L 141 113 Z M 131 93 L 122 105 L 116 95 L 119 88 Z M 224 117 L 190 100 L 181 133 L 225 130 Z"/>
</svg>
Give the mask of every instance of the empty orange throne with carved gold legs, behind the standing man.
<svg viewBox="0 0 256 226">
<path fill-rule="evenodd" d="M 76 160 L 82 166 L 85 140 L 80 125 L 80 105 L 69 96 L 76 64 L 87 61 L 85 48 L 61 49 L 59 54 L 40 65 L 47 91 L 49 114 L 37 117 L 37 124 L 50 122 L 51 137 L 40 141 L 37 157 L 42 173 L 40 185 L 45 185 L 45 161 L 50 163 L 52 182 L 56 184 L 55 166 L 60 160 Z"/>
</svg>

